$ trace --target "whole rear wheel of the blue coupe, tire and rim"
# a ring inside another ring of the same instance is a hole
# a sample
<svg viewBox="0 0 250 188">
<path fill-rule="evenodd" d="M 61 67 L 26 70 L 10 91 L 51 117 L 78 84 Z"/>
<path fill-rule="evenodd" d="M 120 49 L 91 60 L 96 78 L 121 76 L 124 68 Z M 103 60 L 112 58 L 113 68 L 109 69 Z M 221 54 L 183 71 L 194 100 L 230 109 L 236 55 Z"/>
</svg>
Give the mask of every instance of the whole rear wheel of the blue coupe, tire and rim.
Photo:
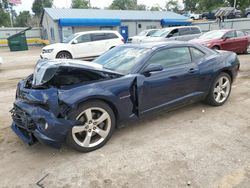
<svg viewBox="0 0 250 188">
<path fill-rule="evenodd" d="M 227 73 L 221 73 L 212 84 L 206 102 L 212 106 L 221 106 L 227 101 L 230 92 L 231 78 Z"/>
</svg>

